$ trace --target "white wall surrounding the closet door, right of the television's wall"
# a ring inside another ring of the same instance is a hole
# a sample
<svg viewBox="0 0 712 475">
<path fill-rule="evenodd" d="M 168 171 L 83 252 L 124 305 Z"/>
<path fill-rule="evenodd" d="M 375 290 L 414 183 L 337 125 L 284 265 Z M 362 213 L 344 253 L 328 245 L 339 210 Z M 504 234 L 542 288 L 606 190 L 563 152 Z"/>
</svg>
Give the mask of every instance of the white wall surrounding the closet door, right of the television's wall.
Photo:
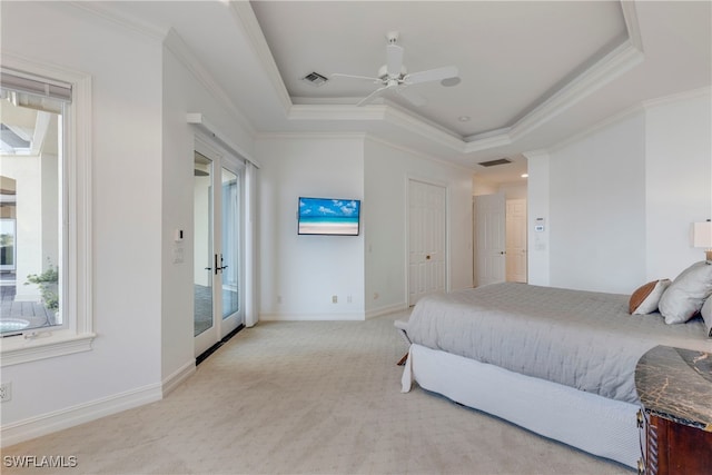
<svg viewBox="0 0 712 475">
<path fill-rule="evenodd" d="M 365 142 L 366 310 L 407 307 L 406 196 L 409 178 L 447 189 L 447 280 L 472 287 L 472 179 L 469 170 L 382 141 Z M 375 296 L 378 296 L 375 298 Z"/>
</svg>

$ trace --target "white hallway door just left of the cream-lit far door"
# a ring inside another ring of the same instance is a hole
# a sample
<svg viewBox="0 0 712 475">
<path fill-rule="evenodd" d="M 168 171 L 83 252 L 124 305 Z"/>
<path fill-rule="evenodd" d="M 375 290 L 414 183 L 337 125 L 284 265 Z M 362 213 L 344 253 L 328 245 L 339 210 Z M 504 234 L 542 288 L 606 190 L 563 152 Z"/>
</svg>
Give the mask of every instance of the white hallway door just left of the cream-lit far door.
<svg viewBox="0 0 712 475">
<path fill-rule="evenodd" d="M 504 194 L 475 197 L 477 236 L 476 285 L 505 279 L 505 199 Z"/>
</svg>

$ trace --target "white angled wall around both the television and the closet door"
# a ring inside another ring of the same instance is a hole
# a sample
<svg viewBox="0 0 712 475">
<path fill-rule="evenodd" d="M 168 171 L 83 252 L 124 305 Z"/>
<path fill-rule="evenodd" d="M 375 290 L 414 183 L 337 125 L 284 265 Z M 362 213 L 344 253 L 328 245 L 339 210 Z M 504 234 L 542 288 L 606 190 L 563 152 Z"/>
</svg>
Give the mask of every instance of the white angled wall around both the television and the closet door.
<svg viewBox="0 0 712 475">
<path fill-rule="evenodd" d="M 260 319 L 363 319 L 407 307 L 408 178 L 447 188 L 448 283 L 472 286 L 466 170 L 363 136 L 273 137 L 257 155 Z M 360 236 L 297 236 L 299 196 L 362 199 Z"/>
</svg>

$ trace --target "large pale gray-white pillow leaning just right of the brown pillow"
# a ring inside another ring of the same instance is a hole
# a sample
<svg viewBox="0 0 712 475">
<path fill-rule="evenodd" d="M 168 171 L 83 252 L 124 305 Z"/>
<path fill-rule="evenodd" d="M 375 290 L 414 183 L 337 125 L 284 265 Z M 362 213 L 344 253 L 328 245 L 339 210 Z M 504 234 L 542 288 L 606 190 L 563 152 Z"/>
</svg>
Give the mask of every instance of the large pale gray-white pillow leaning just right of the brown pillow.
<svg viewBox="0 0 712 475">
<path fill-rule="evenodd" d="M 712 295 L 712 265 L 702 260 L 682 271 L 660 298 L 657 309 L 665 323 L 684 324 Z"/>
</svg>

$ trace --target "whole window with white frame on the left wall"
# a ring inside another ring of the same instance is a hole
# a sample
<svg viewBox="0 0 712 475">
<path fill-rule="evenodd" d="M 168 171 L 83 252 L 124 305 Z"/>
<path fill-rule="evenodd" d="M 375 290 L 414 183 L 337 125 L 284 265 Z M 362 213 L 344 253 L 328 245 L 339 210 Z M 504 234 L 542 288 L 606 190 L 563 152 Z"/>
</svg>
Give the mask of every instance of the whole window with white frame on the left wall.
<svg viewBox="0 0 712 475">
<path fill-rule="evenodd" d="M 8 366 L 88 350 L 93 334 L 88 251 L 90 81 L 4 59 L 0 348 L 2 366 Z"/>
</svg>

